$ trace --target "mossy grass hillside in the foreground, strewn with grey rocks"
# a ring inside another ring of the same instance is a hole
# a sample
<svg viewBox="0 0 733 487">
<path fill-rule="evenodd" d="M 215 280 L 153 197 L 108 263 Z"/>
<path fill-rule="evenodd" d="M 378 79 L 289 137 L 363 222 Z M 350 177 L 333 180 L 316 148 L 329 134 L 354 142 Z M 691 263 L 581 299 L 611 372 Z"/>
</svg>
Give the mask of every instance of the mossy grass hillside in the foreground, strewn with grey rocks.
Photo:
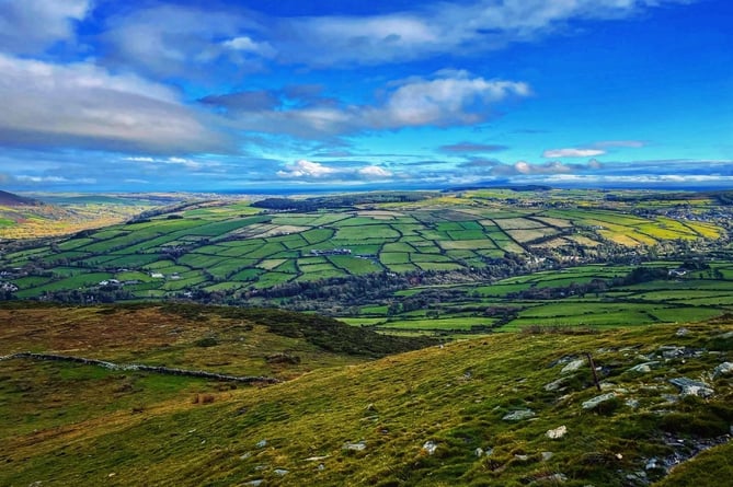
<svg viewBox="0 0 733 487">
<path fill-rule="evenodd" d="M 14 324 L 2 332 L 3 353 L 55 350 L 242 373 L 301 367 L 280 374 L 297 379 L 252 387 L 1 361 L 3 485 L 123 486 L 145 476 L 156 486 L 643 486 L 683 463 L 664 485 L 723 486 L 733 473 L 730 443 L 715 447 L 733 421 L 729 320 L 603 333 L 537 328 L 366 362 L 309 355 L 314 349 L 295 338 L 289 353 L 301 347 L 300 366 L 263 366 L 273 343 L 262 325 L 218 311 L 3 314 Z M 53 325 L 41 326 L 47 320 Z M 101 335 L 83 332 L 100 326 Z M 127 340 L 107 338 L 123 329 Z M 193 345 L 213 333 L 219 344 Z M 325 368 L 314 367 L 320 357 Z"/>
</svg>

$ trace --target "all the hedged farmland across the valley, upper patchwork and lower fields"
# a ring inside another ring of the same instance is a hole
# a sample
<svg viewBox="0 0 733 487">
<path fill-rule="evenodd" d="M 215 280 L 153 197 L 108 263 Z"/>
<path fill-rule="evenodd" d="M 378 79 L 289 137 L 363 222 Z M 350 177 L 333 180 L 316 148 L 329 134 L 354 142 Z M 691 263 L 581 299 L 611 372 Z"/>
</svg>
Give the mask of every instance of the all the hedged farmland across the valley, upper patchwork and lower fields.
<svg viewBox="0 0 733 487">
<path fill-rule="evenodd" d="M 393 332 L 643 324 L 726 312 L 728 207 L 714 195 L 660 195 L 492 189 L 196 200 L 39 244 L 15 241 L 0 254 L 0 270 L 16 288 L 13 299 L 278 305 L 370 317 Z M 551 294 L 554 306 L 517 295 L 609 280 L 655 258 L 674 269 L 680 256 L 711 252 L 723 260 L 682 283 L 584 297 L 569 290 Z M 350 283 L 366 289 L 350 294 Z M 399 292 L 414 301 L 421 286 L 427 294 L 442 289 L 440 302 L 401 311 Z M 381 287 L 389 289 L 375 291 Z M 467 306 L 474 310 L 460 311 Z M 500 318 L 476 311 L 482 306 L 512 310 Z"/>
</svg>

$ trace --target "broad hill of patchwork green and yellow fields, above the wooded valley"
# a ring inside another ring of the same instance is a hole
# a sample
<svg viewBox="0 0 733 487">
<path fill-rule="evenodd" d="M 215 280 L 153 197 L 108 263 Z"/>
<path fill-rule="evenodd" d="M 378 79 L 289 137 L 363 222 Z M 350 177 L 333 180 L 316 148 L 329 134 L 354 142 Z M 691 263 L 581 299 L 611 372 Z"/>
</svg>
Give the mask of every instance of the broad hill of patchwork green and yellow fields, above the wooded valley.
<svg viewBox="0 0 733 487">
<path fill-rule="evenodd" d="M 55 299 L 62 291 L 117 301 L 204 292 L 236 301 L 334 278 L 474 273 L 507 255 L 537 270 L 548 258 L 570 266 L 652 247 L 663 255 L 726 242 L 728 213 L 712 198 L 696 197 L 679 214 L 677 200 L 639 206 L 594 192 L 574 195 L 572 205 L 559 190 L 436 193 L 408 201 L 389 195 L 385 202 L 368 195 L 368 204 L 357 196 L 337 207 L 325 198 L 322 209 L 287 212 L 247 201 L 177 204 L 43 244 L 19 247 L 16 241 L 0 254 L 0 268 L 23 299 Z"/>
</svg>

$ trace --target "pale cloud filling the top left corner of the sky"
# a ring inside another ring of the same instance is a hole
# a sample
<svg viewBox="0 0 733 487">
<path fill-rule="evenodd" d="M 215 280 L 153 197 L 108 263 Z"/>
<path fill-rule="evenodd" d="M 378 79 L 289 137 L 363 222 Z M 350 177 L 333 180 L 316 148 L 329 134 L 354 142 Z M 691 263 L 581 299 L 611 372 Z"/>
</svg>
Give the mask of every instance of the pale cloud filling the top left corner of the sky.
<svg viewBox="0 0 733 487">
<path fill-rule="evenodd" d="M 91 0 L 0 1 L 0 49 L 35 54 L 58 40 L 73 39 L 73 24 L 87 16 Z"/>
</svg>

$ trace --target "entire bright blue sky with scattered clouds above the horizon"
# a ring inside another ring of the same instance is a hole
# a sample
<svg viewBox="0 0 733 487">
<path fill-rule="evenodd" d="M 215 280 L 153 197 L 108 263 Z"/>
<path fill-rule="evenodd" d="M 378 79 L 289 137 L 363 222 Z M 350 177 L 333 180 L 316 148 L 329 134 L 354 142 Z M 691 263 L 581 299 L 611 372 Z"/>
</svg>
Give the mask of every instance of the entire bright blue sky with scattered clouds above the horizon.
<svg viewBox="0 0 733 487">
<path fill-rule="evenodd" d="M 0 0 L 0 188 L 733 187 L 730 0 Z"/>
</svg>

